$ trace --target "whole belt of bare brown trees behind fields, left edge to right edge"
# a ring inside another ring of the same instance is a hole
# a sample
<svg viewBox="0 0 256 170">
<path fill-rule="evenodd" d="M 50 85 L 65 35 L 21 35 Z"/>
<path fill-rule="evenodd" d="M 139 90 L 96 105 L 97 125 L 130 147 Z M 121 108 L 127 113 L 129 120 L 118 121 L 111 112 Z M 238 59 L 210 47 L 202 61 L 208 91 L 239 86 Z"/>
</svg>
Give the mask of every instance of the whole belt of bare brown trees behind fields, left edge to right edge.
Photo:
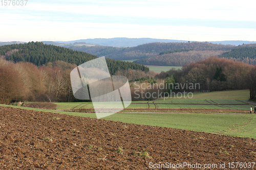
<svg viewBox="0 0 256 170">
<path fill-rule="evenodd" d="M 74 99 L 70 72 L 76 64 L 64 61 L 48 62 L 36 66 L 29 62 L 11 62 L 0 59 L 0 103 L 11 102 L 79 102 Z M 142 70 L 118 70 L 115 75 L 126 76 L 130 82 L 133 100 L 136 85 L 155 86 L 137 89 L 153 93 L 161 84 L 172 83 L 160 92 L 194 92 L 250 89 L 250 98 L 256 99 L 256 66 L 243 62 L 210 57 L 203 61 L 186 64 L 182 69 L 171 69 L 161 74 Z M 200 88 L 182 89 L 177 84 L 199 84 Z M 248 96 L 249 98 L 249 96 Z"/>
</svg>

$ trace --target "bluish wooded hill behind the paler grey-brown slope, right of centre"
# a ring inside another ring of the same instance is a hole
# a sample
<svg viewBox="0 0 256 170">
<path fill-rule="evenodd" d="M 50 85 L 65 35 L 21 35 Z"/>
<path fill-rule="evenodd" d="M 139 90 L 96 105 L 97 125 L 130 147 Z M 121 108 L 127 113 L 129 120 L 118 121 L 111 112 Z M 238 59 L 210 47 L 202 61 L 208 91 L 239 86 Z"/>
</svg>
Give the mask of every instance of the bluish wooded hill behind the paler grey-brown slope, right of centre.
<svg viewBox="0 0 256 170">
<path fill-rule="evenodd" d="M 143 45 L 138 45 L 136 47 L 123 48 L 122 50 L 116 51 L 112 54 L 106 55 L 107 58 L 112 58 L 116 60 L 134 60 L 150 58 L 159 55 L 160 52 L 170 51 L 170 50 L 180 50 L 180 49 L 191 49 L 198 51 L 209 51 L 209 50 L 221 50 L 228 51 L 236 46 L 234 45 L 222 45 L 222 44 L 212 44 L 208 42 L 171 42 L 171 43 L 148 43 Z"/>
</svg>

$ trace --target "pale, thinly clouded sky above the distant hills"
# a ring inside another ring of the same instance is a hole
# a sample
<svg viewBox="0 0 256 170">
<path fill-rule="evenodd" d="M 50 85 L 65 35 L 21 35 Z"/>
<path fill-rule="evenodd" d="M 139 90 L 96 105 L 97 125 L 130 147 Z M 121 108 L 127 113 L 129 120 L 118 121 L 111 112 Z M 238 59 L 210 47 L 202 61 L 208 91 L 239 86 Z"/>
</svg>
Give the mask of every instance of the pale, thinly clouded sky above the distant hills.
<svg viewBox="0 0 256 170">
<path fill-rule="evenodd" d="M 0 41 L 256 41 L 256 1 L 22 1 L 0 1 Z"/>
</svg>

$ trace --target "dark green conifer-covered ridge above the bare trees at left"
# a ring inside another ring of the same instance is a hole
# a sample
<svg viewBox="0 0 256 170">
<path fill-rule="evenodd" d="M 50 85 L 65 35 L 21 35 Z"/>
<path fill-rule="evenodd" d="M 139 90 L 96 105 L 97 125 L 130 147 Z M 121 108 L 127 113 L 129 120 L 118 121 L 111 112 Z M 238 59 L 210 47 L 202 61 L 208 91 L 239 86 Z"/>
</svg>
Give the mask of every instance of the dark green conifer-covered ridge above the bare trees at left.
<svg viewBox="0 0 256 170">
<path fill-rule="evenodd" d="M 0 46 L 0 56 L 13 62 L 31 62 L 37 66 L 58 60 L 80 65 L 84 62 L 97 58 L 97 56 L 89 53 L 33 41 L 24 44 Z M 139 69 L 146 72 L 149 70 L 143 65 L 130 62 L 123 62 L 108 58 L 106 59 L 106 62 L 112 75 L 114 75 L 117 70 L 122 69 Z"/>
</svg>

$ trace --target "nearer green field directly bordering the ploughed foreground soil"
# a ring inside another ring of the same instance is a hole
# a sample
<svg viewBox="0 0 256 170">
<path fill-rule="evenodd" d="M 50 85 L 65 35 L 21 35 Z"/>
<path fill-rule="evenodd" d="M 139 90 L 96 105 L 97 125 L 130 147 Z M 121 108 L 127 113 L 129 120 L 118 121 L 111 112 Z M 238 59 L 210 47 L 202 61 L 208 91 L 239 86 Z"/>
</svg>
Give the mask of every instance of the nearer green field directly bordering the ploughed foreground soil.
<svg viewBox="0 0 256 170">
<path fill-rule="evenodd" d="M 10 105 L 0 106 L 96 118 L 95 113 L 63 112 Z M 116 113 L 104 117 L 103 119 L 140 125 L 256 138 L 256 114 Z"/>
</svg>

